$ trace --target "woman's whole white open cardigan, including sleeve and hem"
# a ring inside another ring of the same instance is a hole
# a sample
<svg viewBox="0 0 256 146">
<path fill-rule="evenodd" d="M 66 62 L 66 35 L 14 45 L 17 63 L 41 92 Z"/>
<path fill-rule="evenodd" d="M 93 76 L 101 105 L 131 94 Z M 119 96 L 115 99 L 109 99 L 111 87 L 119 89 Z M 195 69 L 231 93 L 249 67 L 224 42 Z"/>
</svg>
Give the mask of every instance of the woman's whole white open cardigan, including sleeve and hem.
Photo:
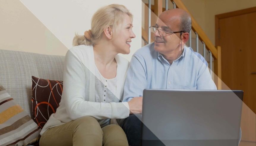
<svg viewBox="0 0 256 146">
<path fill-rule="evenodd" d="M 122 101 L 124 81 L 129 62 L 123 57 L 115 57 L 117 70 L 116 98 Z M 61 102 L 40 134 L 48 128 L 58 126 L 83 116 L 102 119 L 122 119 L 129 116 L 128 102 L 95 102 L 95 62 L 92 46 L 74 46 L 66 54 L 63 93 Z"/>
</svg>

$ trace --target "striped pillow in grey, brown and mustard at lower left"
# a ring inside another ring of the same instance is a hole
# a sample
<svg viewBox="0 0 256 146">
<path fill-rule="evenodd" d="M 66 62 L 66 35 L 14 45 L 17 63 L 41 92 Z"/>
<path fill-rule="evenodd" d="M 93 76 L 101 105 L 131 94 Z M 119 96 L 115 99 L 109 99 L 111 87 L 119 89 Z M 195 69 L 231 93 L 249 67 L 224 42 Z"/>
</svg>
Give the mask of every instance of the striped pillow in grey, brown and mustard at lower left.
<svg viewBox="0 0 256 146">
<path fill-rule="evenodd" d="M 39 139 L 39 127 L 0 85 L 0 146 L 27 145 Z"/>
</svg>

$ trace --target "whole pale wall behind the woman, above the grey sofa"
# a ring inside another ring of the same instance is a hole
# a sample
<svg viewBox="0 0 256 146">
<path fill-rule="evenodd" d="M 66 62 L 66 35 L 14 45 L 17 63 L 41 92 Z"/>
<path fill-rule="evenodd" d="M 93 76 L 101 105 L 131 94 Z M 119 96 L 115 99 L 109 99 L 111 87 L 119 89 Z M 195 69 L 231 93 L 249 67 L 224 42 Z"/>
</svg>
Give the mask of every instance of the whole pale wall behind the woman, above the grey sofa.
<svg viewBox="0 0 256 146">
<path fill-rule="evenodd" d="M 138 0 L 1 0 L 0 49 L 65 55 L 72 47 L 75 32 L 91 28 L 94 12 L 108 4 L 123 4 L 134 15 L 130 60 L 141 47 L 141 1 Z M 25 6 L 24 6 L 25 5 Z M 3 19 L 2 19 L 3 18 Z M 8 37 L 6 37 L 8 36 Z"/>
</svg>

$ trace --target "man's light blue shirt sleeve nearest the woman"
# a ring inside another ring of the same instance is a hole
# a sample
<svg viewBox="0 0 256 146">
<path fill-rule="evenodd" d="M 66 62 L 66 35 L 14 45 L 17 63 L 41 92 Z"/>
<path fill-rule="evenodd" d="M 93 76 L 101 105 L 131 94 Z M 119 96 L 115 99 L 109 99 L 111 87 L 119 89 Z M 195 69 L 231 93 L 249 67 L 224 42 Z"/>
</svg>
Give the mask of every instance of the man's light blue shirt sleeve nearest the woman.
<svg viewBox="0 0 256 146">
<path fill-rule="evenodd" d="M 138 55 L 132 56 L 124 83 L 123 102 L 132 100 L 133 97 L 143 96 L 143 90 L 147 87 L 145 61 Z"/>
</svg>

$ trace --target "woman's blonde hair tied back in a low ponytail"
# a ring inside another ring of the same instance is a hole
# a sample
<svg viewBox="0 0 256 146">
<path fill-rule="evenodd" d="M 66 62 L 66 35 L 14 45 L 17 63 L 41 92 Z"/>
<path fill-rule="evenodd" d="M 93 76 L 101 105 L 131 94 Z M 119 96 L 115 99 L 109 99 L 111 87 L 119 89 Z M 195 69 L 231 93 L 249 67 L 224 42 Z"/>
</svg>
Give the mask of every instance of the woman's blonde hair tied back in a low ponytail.
<svg viewBox="0 0 256 146">
<path fill-rule="evenodd" d="M 127 14 L 132 20 L 132 14 L 124 5 L 110 4 L 98 9 L 91 18 L 91 30 L 85 32 L 85 35 L 76 33 L 73 38 L 73 46 L 96 44 L 100 40 L 101 34 L 109 26 L 113 28 L 114 32 L 116 31 L 117 25 L 124 20 L 124 14 Z"/>
</svg>

